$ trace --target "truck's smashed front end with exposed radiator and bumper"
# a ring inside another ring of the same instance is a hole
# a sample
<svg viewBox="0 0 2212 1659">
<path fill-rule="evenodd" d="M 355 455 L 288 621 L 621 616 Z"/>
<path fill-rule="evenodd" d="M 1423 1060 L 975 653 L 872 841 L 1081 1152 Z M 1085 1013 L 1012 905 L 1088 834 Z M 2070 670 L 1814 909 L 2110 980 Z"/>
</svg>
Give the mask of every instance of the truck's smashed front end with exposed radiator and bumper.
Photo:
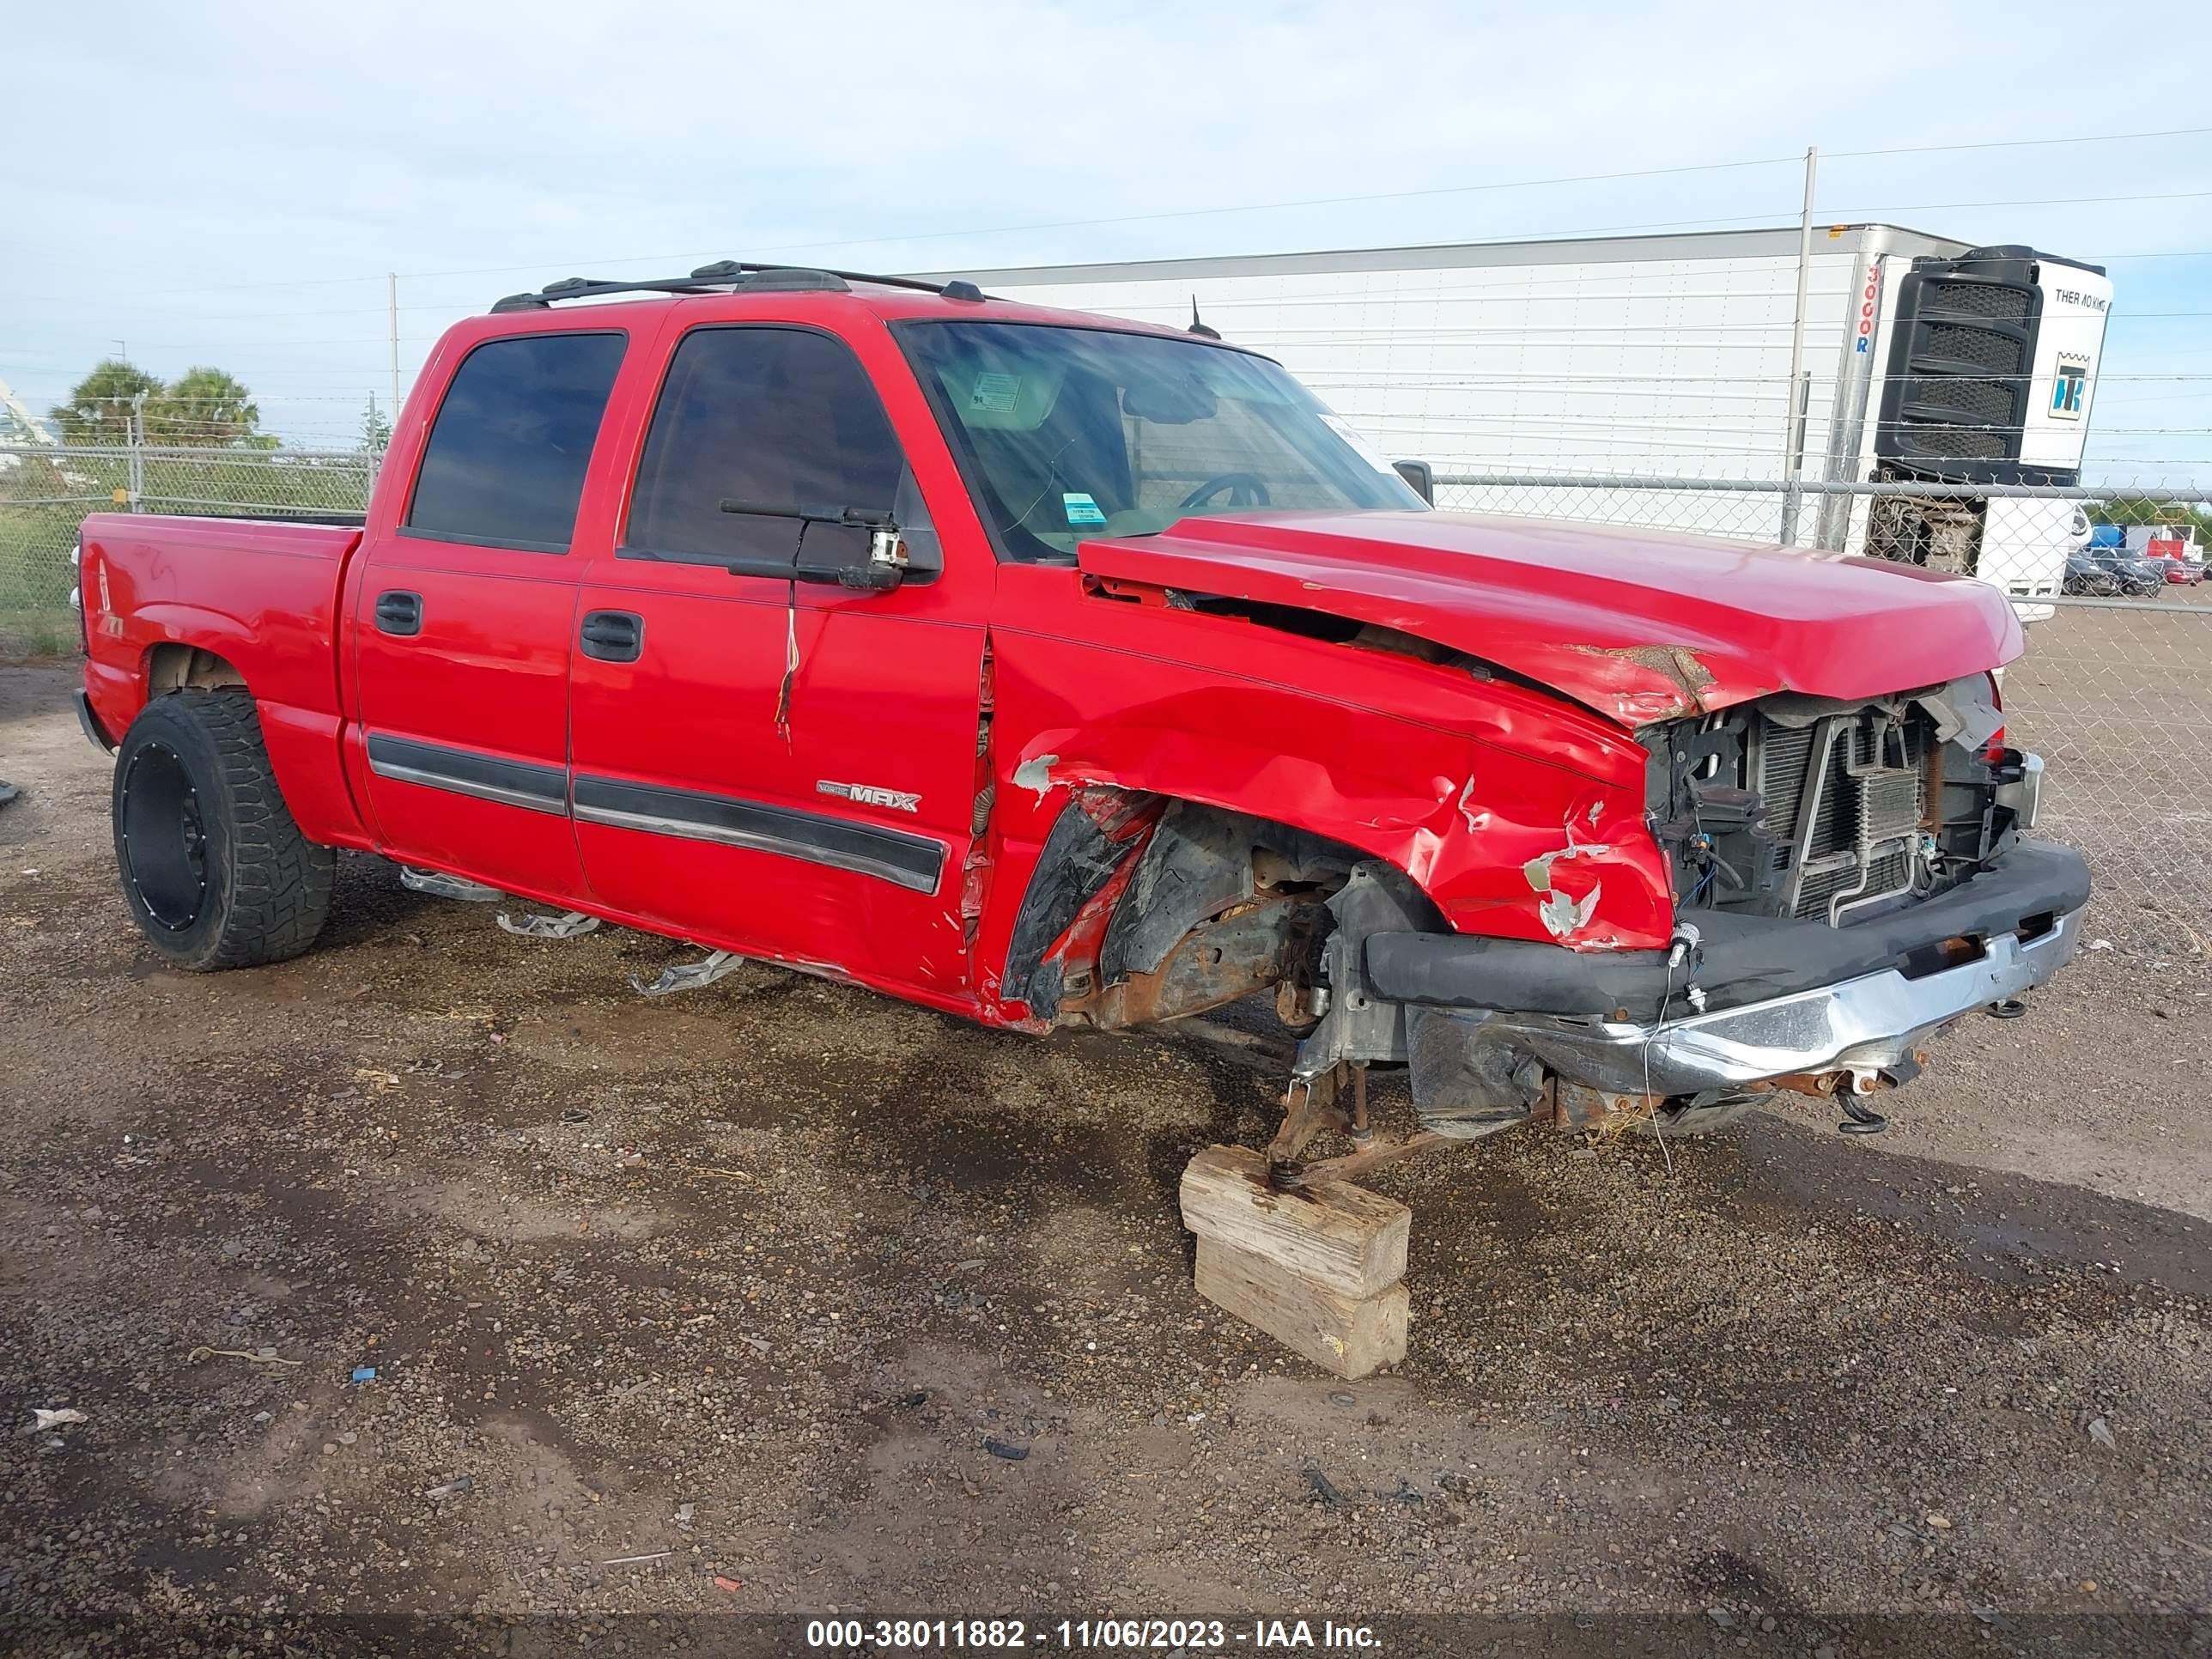
<svg viewBox="0 0 2212 1659">
<path fill-rule="evenodd" d="M 1307 1088 L 1405 1064 L 1422 1128 L 1449 1137 L 1540 1113 L 1663 1130 L 1776 1088 L 1878 1128 L 1865 1097 L 1909 1082 L 1933 1035 L 2017 1013 L 2075 951 L 2088 869 L 2024 838 L 2042 763 L 2004 745 L 1986 675 L 1763 697 L 1637 737 L 1668 945 L 1451 931 L 1363 863 L 1329 902 Z"/>
</svg>

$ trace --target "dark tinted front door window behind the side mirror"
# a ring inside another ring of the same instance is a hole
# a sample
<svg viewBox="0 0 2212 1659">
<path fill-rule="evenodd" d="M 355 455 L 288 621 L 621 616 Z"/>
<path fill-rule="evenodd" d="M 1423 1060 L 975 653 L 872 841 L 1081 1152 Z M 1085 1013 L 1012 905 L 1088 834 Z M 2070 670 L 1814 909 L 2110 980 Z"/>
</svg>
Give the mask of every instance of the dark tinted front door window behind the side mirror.
<svg viewBox="0 0 2212 1659">
<path fill-rule="evenodd" d="M 624 555 L 787 560 L 799 524 L 721 504 L 891 511 L 902 471 L 876 387 L 841 341 L 790 327 L 701 327 L 668 365 Z"/>
</svg>

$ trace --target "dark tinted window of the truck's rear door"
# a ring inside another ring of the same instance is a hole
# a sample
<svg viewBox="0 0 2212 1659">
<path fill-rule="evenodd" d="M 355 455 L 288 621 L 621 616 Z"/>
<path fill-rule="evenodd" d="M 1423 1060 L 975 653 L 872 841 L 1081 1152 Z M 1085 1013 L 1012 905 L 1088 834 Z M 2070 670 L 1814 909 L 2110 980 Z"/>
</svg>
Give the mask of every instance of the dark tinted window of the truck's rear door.
<svg viewBox="0 0 2212 1659">
<path fill-rule="evenodd" d="M 462 361 L 422 449 L 407 529 L 566 553 L 622 334 L 515 334 Z"/>
</svg>

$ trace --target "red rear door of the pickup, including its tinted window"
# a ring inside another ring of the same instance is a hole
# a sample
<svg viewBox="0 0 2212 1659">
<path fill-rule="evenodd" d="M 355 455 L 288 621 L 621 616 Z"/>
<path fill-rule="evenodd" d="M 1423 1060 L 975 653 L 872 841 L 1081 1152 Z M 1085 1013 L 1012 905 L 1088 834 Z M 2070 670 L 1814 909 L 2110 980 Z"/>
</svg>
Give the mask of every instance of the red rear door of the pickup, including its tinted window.
<svg viewBox="0 0 2212 1659">
<path fill-rule="evenodd" d="M 378 484 L 385 522 L 354 577 L 349 761 L 403 863 L 584 889 L 566 776 L 577 509 L 624 345 L 606 327 L 487 338 L 451 369 L 418 465 L 385 462 L 411 476 Z"/>
</svg>

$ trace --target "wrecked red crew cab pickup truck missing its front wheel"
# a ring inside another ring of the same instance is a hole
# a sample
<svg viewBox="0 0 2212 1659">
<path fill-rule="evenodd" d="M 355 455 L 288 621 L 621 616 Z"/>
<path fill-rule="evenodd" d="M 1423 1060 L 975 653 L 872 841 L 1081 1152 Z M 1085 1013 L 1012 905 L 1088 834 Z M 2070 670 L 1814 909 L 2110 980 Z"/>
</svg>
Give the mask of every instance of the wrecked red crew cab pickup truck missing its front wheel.
<svg viewBox="0 0 2212 1659">
<path fill-rule="evenodd" d="M 1026 1031 L 1272 991 L 1279 1152 L 1367 1066 L 1444 1137 L 1878 1126 L 2070 956 L 1995 588 L 1420 482 L 1197 323 L 515 294 L 365 522 L 86 520 L 124 891 L 184 969 L 307 949 L 356 847 Z"/>
</svg>

